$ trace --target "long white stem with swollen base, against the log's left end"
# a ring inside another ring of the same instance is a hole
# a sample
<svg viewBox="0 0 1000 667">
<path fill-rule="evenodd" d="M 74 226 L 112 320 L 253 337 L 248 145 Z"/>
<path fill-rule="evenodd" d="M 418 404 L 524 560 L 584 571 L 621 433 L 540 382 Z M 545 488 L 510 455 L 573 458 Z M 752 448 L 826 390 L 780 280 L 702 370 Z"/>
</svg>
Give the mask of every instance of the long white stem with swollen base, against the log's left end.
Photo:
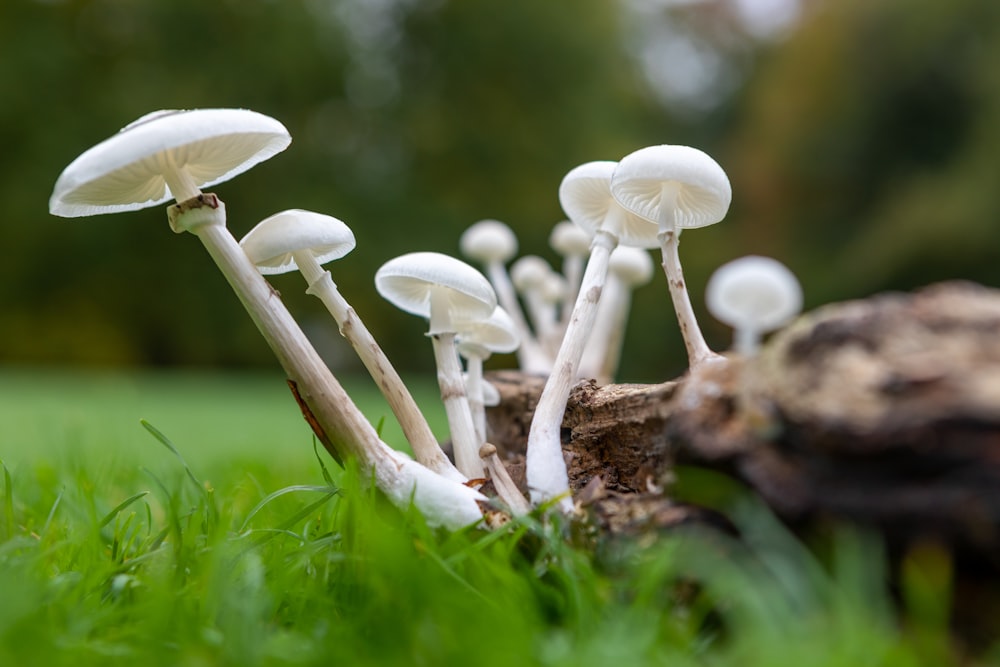
<svg viewBox="0 0 1000 667">
<path fill-rule="evenodd" d="M 560 431 L 587 334 L 594 325 L 601 286 L 608 273 L 608 259 L 617 244 L 618 238 L 606 229 L 599 229 L 594 235 L 580 293 L 566 326 L 566 336 L 535 407 L 528 432 L 525 466 L 528 491 L 532 503 L 536 505 L 558 499 L 561 510 L 569 512 L 573 509 Z"/>
</svg>

